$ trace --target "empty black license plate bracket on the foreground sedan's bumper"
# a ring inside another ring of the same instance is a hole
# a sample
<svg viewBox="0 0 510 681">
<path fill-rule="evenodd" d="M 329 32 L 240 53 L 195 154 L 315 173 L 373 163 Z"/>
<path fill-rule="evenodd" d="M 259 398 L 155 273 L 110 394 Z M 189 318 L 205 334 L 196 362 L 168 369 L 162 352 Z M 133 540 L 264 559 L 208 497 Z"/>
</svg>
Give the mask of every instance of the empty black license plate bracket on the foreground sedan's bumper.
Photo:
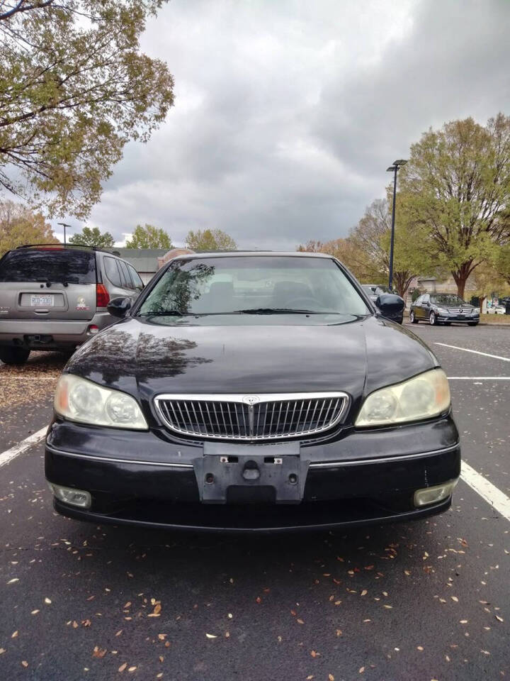
<svg viewBox="0 0 510 681">
<path fill-rule="evenodd" d="M 193 461 L 200 501 L 258 502 L 268 499 L 270 490 L 276 504 L 299 504 L 310 462 L 302 460 L 299 443 L 285 445 L 207 443 L 203 456 Z"/>
</svg>

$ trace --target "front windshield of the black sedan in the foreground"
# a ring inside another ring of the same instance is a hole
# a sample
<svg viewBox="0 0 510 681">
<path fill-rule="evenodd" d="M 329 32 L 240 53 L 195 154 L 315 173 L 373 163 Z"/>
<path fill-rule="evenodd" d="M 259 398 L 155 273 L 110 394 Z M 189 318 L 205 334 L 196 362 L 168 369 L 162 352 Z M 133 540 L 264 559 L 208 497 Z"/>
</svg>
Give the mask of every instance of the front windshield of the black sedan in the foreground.
<svg viewBox="0 0 510 681">
<path fill-rule="evenodd" d="M 369 314 L 329 258 L 240 256 L 174 261 L 138 311 L 151 314 Z"/>
</svg>

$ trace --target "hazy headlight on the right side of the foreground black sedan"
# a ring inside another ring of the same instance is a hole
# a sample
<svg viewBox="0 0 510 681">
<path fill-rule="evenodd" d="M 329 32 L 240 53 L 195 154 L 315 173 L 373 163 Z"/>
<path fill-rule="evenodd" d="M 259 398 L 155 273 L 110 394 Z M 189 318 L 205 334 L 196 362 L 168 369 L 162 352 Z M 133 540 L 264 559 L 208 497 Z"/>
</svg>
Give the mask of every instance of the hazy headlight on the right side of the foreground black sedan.
<svg viewBox="0 0 510 681">
<path fill-rule="evenodd" d="M 450 406 L 450 388 L 442 369 L 376 390 L 361 406 L 356 426 L 388 426 L 437 416 Z"/>
</svg>

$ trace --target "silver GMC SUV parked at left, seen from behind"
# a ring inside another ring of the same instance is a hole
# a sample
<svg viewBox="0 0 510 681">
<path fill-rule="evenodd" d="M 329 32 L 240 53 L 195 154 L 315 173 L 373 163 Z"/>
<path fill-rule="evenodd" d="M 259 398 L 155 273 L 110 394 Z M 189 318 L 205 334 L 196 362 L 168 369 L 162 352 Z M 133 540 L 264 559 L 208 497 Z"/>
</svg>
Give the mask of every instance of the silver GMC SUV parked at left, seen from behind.
<svg viewBox="0 0 510 681">
<path fill-rule="evenodd" d="M 0 259 L 0 360 L 30 350 L 74 350 L 118 321 L 106 306 L 135 301 L 142 279 L 129 262 L 91 246 L 20 246 Z"/>
</svg>

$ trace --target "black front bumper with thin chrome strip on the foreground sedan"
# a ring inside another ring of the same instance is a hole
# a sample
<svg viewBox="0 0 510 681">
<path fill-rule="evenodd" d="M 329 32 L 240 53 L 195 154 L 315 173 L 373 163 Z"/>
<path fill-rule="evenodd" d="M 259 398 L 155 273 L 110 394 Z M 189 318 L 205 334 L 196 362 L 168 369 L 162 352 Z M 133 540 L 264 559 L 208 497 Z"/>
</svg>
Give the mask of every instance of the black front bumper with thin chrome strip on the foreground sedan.
<svg viewBox="0 0 510 681">
<path fill-rule="evenodd" d="M 193 468 L 193 460 L 203 455 L 201 446 L 172 441 L 157 430 L 135 433 L 55 421 L 47 436 L 45 474 L 55 485 L 91 492 L 90 509 L 55 500 L 55 509 L 64 515 L 211 531 L 317 529 L 417 519 L 446 510 L 451 499 L 416 509 L 416 489 L 460 475 L 458 433 L 450 416 L 397 428 L 350 429 L 334 441 L 302 442 L 300 451 L 310 465 L 302 501 L 295 505 L 201 503 Z"/>
</svg>

